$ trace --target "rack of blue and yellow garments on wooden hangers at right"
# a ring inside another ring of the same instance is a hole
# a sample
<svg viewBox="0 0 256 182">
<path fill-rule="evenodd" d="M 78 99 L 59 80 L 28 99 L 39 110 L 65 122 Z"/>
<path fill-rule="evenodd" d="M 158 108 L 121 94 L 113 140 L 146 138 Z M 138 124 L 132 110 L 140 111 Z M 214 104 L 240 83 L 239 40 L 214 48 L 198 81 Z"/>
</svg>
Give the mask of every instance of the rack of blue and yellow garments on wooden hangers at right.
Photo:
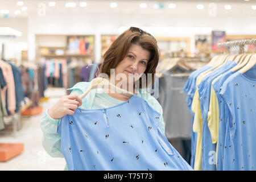
<svg viewBox="0 0 256 182">
<path fill-rule="evenodd" d="M 193 115 L 192 167 L 196 170 L 254 170 L 254 59 L 246 54 L 215 56 L 189 76 L 184 92 Z M 250 66 L 240 72 L 244 65 Z M 241 158 L 242 154 L 247 155 Z"/>
</svg>

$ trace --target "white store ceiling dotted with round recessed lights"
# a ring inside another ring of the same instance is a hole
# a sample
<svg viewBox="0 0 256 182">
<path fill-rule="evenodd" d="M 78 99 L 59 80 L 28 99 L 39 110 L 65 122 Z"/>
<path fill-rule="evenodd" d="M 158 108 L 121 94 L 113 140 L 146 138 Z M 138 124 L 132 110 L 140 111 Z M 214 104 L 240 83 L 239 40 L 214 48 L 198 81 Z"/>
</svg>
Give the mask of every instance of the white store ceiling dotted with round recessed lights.
<svg viewBox="0 0 256 182">
<path fill-rule="evenodd" d="M 55 7 L 48 6 L 48 3 L 51 1 L 56 2 Z M 38 14 L 39 3 L 46 4 L 46 16 L 51 15 L 63 15 L 63 14 L 77 14 L 77 15 L 86 15 L 86 14 L 167 14 L 167 15 L 183 15 L 183 16 L 193 16 L 193 15 L 202 15 L 207 16 L 210 10 L 209 4 L 215 3 L 216 5 L 216 15 L 217 16 L 255 16 L 256 10 L 251 8 L 252 5 L 256 5 L 256 0 L 180 0 L 180 1 L 123 1 L 123 0 L 88 0 L 83 1 L 87 3 L 86 7 L 80 7 L 79 3 L 82 1 L 77 0 L 23 0 L 24 5 L 27 7 L 26 11 L 21 11 L 19 15 L 15 15 L 15 10 L 21 10 L 22 6 L 17 6 L 16 2 L 18 0 L 0 0 L 0 10 L 8 9 L 10 10 L 9 18 L 24 18 L 28 16 L 34 16 Z M 74 8 L 65 7 L 66 2 L 76 2 L 77 6 Z M 117 8 L 111 8 L 110 3 L 116 2 L 118 4 Z M 147 3 L 147 8 L 142 9 L 139 7 L 140 3 Z M 164 5 L 163 9 L 154 9 L 155 3 L 162 3 Z M 176 9 L 169 9 L 168 4 L 174 3 Z M 204 5 L 203 10 L 198 10 L 196 5 Z M 224 5 L 231 5 L 231 10 L 225 10 Z M 0 14 L 0 17 L 4 17 L 3 14 Z"/>
</svg>

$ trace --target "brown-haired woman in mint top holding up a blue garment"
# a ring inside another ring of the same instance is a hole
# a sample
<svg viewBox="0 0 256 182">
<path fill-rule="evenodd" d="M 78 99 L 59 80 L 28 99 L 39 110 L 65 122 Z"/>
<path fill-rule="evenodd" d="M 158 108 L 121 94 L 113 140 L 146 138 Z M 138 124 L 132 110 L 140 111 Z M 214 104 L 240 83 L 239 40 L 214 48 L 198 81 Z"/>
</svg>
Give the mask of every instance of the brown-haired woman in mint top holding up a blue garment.
<svg viewBox="0 0 256 182">
<path fill-rule="evenodd" d="M 152 83 L 154 83 L 154 74 L 159 60 L 159 48 L 155 38 L 142 31 L 139 28 L 131 27 L 123 32 L 113 42 L 112 46 L 104 55 L 104 63 L 101 66 L 101 73 L 105 73 L 109 80 L 113 80 L 113 74 L 110 69 L 115 68 L 115 75 L 124 75 L 122 77 L 121 88 L 133 88 L 133 93 L 137 94 L 143 100 L 160 113 L 160 127 L 164 133 L 163 111 L 159 102 L 149 93 L 142 90 L 143 79 L 140 77 L 143 73 L 152 73 Z M 139 81 L 139 89 L 135 88 L 135 81 Z M 146 78 L 147 79 L 147 78 Z M 114 79 L 115 80 L 115 79 Z M 144 80 L 145 81 L 145 80 Z M 147 81 L 147 80 L 146 80 Z M 116 86 L 117 80 L 112 82 Z M 89 82 L 79 82 L 69 90 L 72 90 L 69 96 L 63 96 L 55 105 L 46 111 L 46 114 L 40 122 L 43 130 L 42 144 L 49 155 L 53 157 L 64 157 L 60 150 L 61 136 L 57 133 L 60 121 L 64 115 L 73 115 L 77 107 L 82 109 L 99 109 L 121 104 L 129 100 L 128 97 L 119 93 L 109 93 L 108 90 L 102 92 L 102 89 L 90 90 L 89 94 L 81 100 L 79 97 L 88 88 Z M 131 90 L 129 90 L 131 92 Z M 67 165 L 65 167 L 67 170 Z"/>
</svg>

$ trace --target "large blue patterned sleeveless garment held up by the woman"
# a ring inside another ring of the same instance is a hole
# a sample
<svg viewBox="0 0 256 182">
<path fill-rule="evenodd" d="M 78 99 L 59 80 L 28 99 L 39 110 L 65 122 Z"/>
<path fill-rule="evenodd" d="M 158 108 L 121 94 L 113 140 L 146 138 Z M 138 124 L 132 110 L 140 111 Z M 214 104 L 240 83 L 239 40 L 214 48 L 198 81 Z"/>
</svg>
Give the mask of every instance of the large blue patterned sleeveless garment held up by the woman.
<svg viewBox="0 0 256 182">
<path fill-rule="evenodd" d="M 73 170 L 192 170 L 159 128 L 160 114 L 136 94 L 104 109 L 61 118 L 61 151 Z"/>
</svg>

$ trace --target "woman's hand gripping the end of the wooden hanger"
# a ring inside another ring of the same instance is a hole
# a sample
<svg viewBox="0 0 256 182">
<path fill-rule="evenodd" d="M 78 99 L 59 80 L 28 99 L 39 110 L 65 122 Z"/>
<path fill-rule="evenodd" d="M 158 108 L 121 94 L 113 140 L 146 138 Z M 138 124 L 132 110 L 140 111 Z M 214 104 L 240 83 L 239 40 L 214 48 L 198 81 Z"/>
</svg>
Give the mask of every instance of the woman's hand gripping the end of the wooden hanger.
<svg viewBox="0 0 256 182">
<path fill-rule="evenodd" d="M 73 115 L 77 107 L 82 105 L 82 100 L 77 95 L 63 96 L 49 110 L 48 114 L 52 119 L 60 119 L 64 115 Z"/>
</svg>

